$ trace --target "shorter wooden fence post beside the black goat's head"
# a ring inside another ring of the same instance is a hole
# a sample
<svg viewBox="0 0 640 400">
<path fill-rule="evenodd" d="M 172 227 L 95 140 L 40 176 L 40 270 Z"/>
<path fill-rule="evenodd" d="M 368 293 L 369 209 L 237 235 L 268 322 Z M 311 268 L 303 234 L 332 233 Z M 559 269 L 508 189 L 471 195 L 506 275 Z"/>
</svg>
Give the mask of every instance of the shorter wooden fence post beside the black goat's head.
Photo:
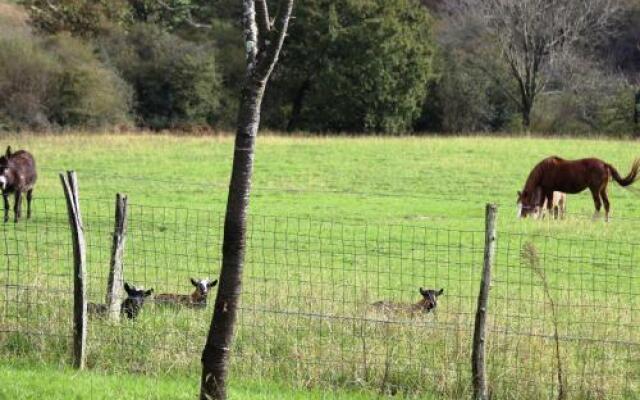
<svg viewBox="0 0 640 400">
<path fill-rule="evenodd" d="M 127 238 L 127 196 L 116 194 L 116 215 L 113 227 L 113 243 L 111 245 L 111 263 L 107 280 L 107 304 L 109 318 L 120 320 L 122 304 L 122 286 L 124 285 L 124 244 Z"/>
</svg>

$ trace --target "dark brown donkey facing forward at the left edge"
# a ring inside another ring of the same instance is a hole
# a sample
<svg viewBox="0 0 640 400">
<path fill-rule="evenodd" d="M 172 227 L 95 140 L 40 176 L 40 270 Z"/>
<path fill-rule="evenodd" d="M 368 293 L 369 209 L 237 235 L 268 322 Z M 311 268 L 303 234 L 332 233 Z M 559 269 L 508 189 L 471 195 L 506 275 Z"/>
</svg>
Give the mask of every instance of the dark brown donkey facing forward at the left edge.
<svg viewBox="0 0 640 400">
<path fill-rule="evenodd" d="M 14 193 L 14 221 L 22 216 L 22 193 L 27 193 L 27 218 L 31 218 L 31 198 L 36 184 L 36 161 L 25 150 L 11 153 L 11 146 L 0 157 L 0 188 L 4 199 L 4 222 L 9 220 L 9 194 Z"/>
</svg>

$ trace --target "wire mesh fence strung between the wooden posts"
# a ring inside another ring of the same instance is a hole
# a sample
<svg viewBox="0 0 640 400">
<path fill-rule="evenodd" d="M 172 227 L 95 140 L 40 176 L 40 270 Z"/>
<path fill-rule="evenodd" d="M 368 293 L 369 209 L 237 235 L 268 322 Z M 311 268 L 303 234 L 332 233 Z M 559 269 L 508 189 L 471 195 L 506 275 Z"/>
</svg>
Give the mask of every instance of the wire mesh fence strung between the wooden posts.
<svg viewBox="0 0 640 400">
<path fill-rule="evenodd" d="M 105 302 L 111 201 L 82 201 L 88 297 Z M 505 218 L 507 218 L 505 216 Z M 475 220 L 474 220 L 475 221 Z M 460 398 L 484 231 L 252 216 L 232 376 Z M 474 224 L 476 223 L 474 222 Z M 475 226 L 475 225 L 474 225 Z M 199 374 L 213 310 L 155 301 L 217 278 L 223 215 L 129 204 L 124 280 L 153 289 L 135 319 L 90 315 L 87 365 Z M 72 250 L 61 199 L 4 224 L 0 353 L 68 363 Z M 640 395 L 640 243 L 498 232 L 487 369 L 495 398 Z M 439 291 L 426 312 L 420 288 Z"/>
</svg>

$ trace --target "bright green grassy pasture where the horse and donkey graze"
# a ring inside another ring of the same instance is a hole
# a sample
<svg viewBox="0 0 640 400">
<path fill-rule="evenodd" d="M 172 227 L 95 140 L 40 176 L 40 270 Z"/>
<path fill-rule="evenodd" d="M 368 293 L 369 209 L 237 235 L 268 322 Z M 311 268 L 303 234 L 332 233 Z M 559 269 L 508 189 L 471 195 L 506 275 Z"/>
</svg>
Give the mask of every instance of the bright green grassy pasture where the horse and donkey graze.
<svg viewBox="0 0 640 400">
<path fill-rule="evenodd" d="M 118 191 L 132 203 L 128 281 L 188 293 L 190 276 L 217 274 L 231 138 L 6 142 L 36 155 L 40 177 L 33 220 L 5 225 L 0 238 L 0 354 L 69 360 L 61 170 L 75 169 L 80 180 L 92 301 L 104 297 Z M 468 396 L 484 205 L 496 202 L 487 350 L 495 398 L 555 395 L 554 322 L 570 398 L 637 398 L 640 198 L 611 184 L 609 224 L 592 221 L 587 193 L 570 196 L 566 220 L 518 221 L 515 193 L 545 156 L 597 156 L 626 174 L 638 150 L 630 141 L 578 139 L 260 137 L 232 376 L 319 393 Z M 436 313 L 369 306 L 414 302 L 419 286 L 445 288 Z M 197 381 L 209 318 L 149 304 L 133 323 L 92 319 L 88 363 L 98 375 L 86 379 L 108 385 L 100 379 L 113 378 L 96 376 L 113 373 L 160 382 L 167 373 Z"/>
</svg>

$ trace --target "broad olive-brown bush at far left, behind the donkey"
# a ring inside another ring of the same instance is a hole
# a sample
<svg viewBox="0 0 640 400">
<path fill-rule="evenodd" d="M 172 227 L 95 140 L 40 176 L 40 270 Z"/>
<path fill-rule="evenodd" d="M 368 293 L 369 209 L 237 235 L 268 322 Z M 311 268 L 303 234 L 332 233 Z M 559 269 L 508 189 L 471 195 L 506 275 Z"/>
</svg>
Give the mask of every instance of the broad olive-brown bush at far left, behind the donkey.
<svg viewBox="0 0 640 400">
<path fill-rule="evenodd" d="M 130 92 L 91 48 L 67 35 L 0 39 L 0 127 L 98 128 L 126 123 Z"/>
</svg>

